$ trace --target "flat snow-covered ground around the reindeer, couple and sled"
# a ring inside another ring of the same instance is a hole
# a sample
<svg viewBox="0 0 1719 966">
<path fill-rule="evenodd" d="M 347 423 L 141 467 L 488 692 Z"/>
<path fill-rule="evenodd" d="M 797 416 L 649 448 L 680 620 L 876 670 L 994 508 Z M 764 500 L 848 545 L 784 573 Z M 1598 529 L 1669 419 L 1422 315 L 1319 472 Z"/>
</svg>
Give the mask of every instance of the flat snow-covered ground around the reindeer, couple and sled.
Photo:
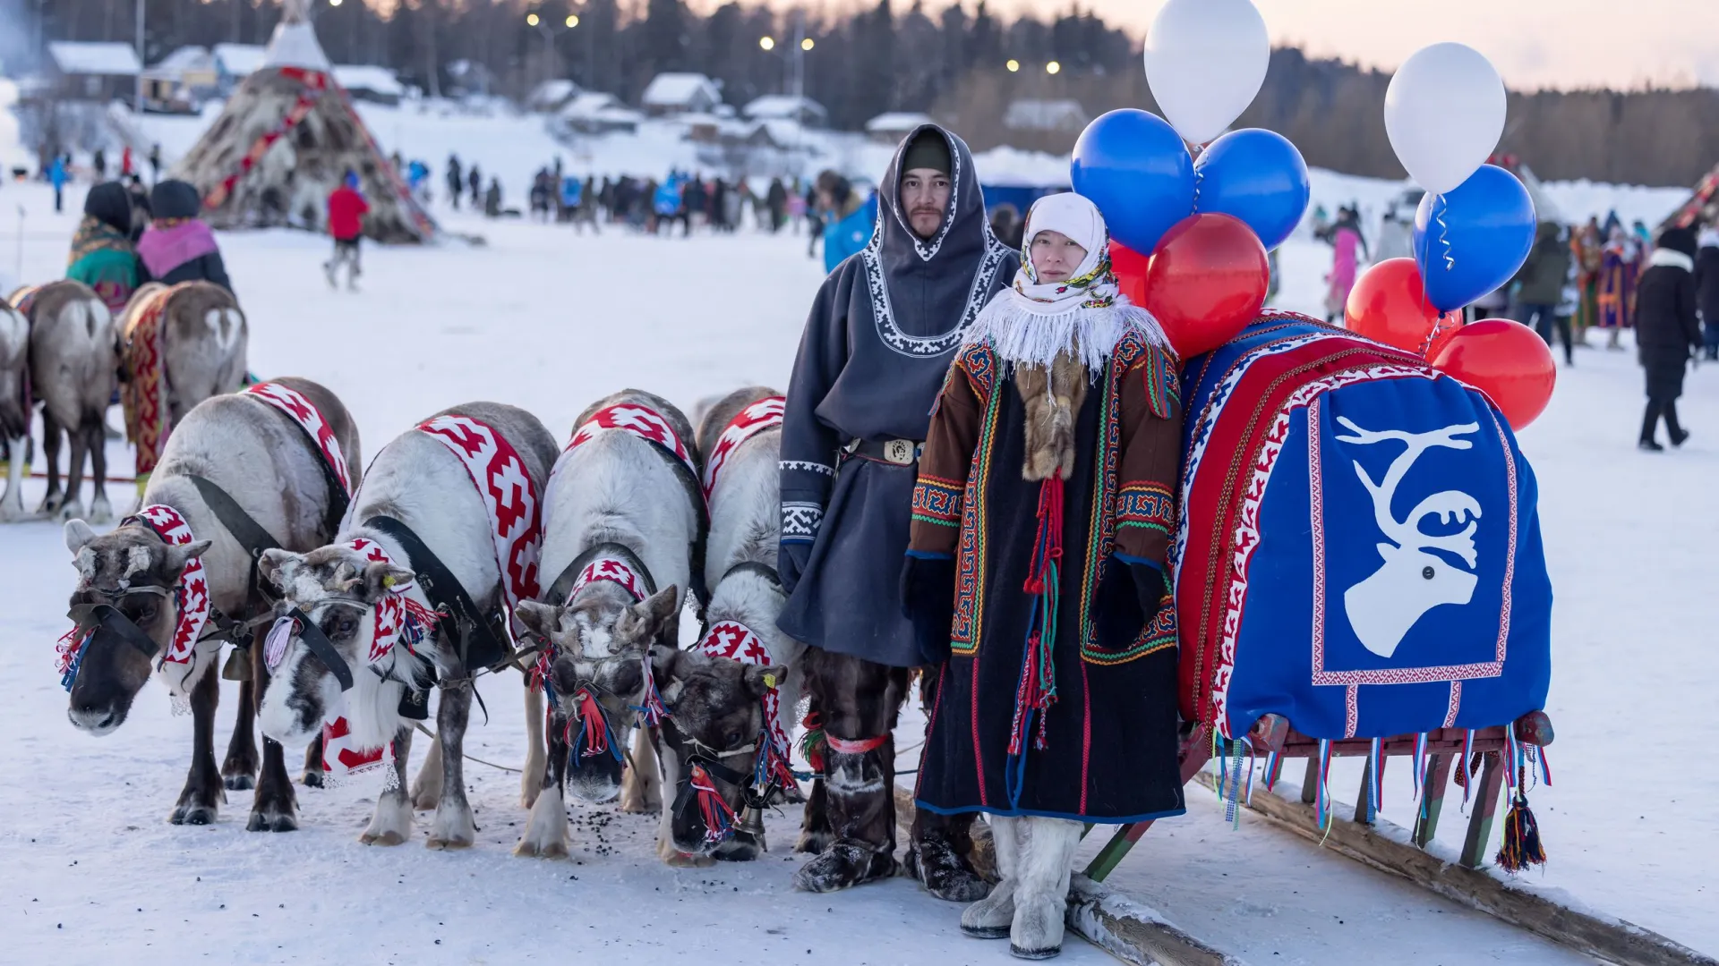
<svg viewBox="0 0 1719 966">
<path fill-rule="evenodd" d="M 21 275 L 60 275 L 72 215 L 52 215 L 52 198 L 33 186 L 0 189 L 0 210 L 14 203 L 28 210 Z M 72 193 L 69 210 L 79 205 Z M 222 237 L 251 321 L 251 368 L 333 388 L 366 459 L 462 400 L 524 406 L 564 435 L 584 404 L 629 385 L 686 409 L 744 383 L 780 387 L 822 278 L 803 237 L 581 239 L 437 213 L 488 244 L 370 248 L 361 294 L 328 290 L 323 239 Z M 5 227 L 0 273 L 12 273 Z M 1327 251 L 1284 249 L 1286 308 L 1315 309 Z M 1559 376 L 1551 409 L 1521 438 L 1540 478 L 1557 593 L 1547 708 L 1556 787 L 1533 794 L 1551 863 L 1523 883 L 1719 952 L 1719 777 L 1679 748 L 1681 724 L 1719 691 L 1709 596 L 1719 371 L 1690 378 L 1683 413 L 1697 435 L 1664 455 L 1633 447 L 1642 392 L 1631 354 L 1585 351 Z M 129 466 L 115 447 L 115 474 Z M 26 502 L 40 492 L 36 483 Z M 0 787 L 0 961 L 108 963 L 117 951 L 129 963 L 1007 961 L 1004 945 L 956 932 L 959 906 L 909 880 L 792 892 L 794 811 L 768 822 L 763 861 L 710 870 L 662 866 L 652 818 L 578 803 L 572 861 L 516 859 L 517 775 L 476 763 L 466 775 L 481 832 L 469 853 L 359 846 L 376 777 L 299 789 L 303 828 L 291 835 L 244 832 L 251 792 L 229 792 L 213 827 L 168 825 L 191 720 L 172 717 L 151 684 L 117 734 L 96 741 L 70 727 L 52 670 L 67 564 L 58 526 L 0 529 L 0 729 L 10 736 L 0 751 L 10 777 Z M 223 688 L 218 743 L 237 696 Z M 481 689 L 490 722 L 474 722 L 469 751 L 517 765 L 519 688 L 492 679 Z M 918 729 L 904 715 L 901 744 Z M 1337 798 L 1351 799 L 1356 767 L 1334 772 Z M 1188 798 L 1188 816 L 1159 823 L 1110 882 L 1246 963 L 1583 961 L 1253 816 L 1233 832 L 1210 792 Z M 1384 816 L 1411 822 L 1404 768 L 1389 772 Z M 1461 828 L 1453 803 L 1437 847 L 1454 854 Z M 1064 961 L 1110 959 L 1071 938 Z"/>
</svg>

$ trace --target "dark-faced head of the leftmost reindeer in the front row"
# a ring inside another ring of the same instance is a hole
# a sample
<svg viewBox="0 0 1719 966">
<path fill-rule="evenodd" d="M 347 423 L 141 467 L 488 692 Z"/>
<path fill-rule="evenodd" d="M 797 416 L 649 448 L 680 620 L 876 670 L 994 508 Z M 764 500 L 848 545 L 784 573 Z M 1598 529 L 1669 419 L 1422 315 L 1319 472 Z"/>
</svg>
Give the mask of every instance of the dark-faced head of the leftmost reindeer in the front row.
<svg viewBox="0 0 1719 966">
<path fill-rule="evenodd" d="M 143 523 L 129 523 L 96 536 L 81 519 L 65 523 L 65 548 L 77 567 L 76 610 L 105 603 L 167 651 L 179 624 L 174 586 L 186 562 L 208 550 L 208 540 L 184 547 L 168 545 Z M 67 717 L 89 734 L 108 734 L 125 722 L 131 703 L 150 681 L 155 662 L 110 626 L 100 624 L 84 643 L 77 677 L 72 681 Z"/>
</svg>

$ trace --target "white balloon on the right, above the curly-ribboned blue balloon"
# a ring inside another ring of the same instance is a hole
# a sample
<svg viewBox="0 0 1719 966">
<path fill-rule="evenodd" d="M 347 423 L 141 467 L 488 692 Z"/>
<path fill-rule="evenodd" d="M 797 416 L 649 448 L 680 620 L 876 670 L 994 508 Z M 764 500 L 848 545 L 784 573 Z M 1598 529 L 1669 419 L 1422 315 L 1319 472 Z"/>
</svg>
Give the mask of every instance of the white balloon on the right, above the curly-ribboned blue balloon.
<svg viewBox="0 0 1719 966">
<path fill-rule="evenodd" d="M 1444 194 L 1487 163 L 1504 134 L 1504 81 L 1478 50 L 1435 43 L 1398 67 L 1386 134 L 1410 177 Z"/>
</svg>

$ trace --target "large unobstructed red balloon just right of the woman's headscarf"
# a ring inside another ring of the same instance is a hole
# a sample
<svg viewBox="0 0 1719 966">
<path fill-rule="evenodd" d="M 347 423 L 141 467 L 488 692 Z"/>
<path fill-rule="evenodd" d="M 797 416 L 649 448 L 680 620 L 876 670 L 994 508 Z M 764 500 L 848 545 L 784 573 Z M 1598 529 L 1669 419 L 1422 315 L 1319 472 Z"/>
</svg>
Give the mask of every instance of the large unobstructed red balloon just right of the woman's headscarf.
<svg viewBox="0 0 1719 966">
<path fill-rule="evenodd" d="M 1229 215 L 1191 215 L 1164 232 L 1147 268 L 1147 311 L 1183 359 L 1234 339 L 1265 306 L 1265 246 Z"/>
</svg>

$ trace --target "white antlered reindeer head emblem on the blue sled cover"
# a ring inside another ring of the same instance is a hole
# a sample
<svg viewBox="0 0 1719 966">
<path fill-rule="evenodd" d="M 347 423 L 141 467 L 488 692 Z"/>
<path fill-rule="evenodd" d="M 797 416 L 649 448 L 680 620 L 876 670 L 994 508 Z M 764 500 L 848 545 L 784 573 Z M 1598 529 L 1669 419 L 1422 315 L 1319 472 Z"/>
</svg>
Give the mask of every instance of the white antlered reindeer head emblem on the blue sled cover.
<svg viewBox="0 0 1719 966">
<path fill-rule="evenodd" d="M 1391 500 L 1398 485 L 1408 474 L 1410 466 L 1423 452 L 1434 447 L 1473 449 L 1473 442 L 1459 440 L 1480 430 L 1477 423 L 1446 426 L 1430 433 L 1404 433 L 1401 430 L 1372 431 L 1356 426 L 1351 419 L 1339 416 L 1351 435 L 1337 437 L 1346 443 L 1372 445 L 1380 442 L 1401 442 L 1404 450 L 1386 471 L 1384 480 L 1373 480 L 1355 461 L 1355 474 L 1373 498 L 1373 521 L 1379 531 L 1391 543 L 1379 545 L 1384 566 L 1373 576 L 1351 586 L 1343 593 L 1343 607 L 1349 614 L 1349 626 L 1361 646 L 1379 657 L 1389 658 L 1396 653 L 1403 638 L 1416 621 L 1441 603 L 1468 603 L 1475 596 L 1475 574 L 1453 567 L 1444 557 L 1428 550 L 1456 553 L 1465 564 L 1475 567 L 1475 529 L 1480 526 L 1480 504 L 1473 497 L 1458 490 L 1444 490 L 1422 500 L 1401 521 L 1391 512 Z M 1420 521 L 1435 516 L 1446 524 L 1468 521 L 1461 533 L 1428 535 L 1420 529 Z"/>
</svg>

